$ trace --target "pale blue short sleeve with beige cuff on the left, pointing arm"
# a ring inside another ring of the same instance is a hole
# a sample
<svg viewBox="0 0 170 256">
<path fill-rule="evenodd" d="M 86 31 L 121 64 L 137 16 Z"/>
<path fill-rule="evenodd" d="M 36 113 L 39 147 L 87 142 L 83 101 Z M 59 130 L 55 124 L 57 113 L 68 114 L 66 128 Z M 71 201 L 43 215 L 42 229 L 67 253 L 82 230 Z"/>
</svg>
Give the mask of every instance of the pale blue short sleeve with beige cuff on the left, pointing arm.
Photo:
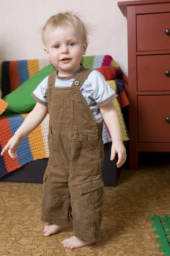
<svg viewBox="0 0 170 256">
<path fill-rule="evenodd" d="M 44 80 L 42 80 L 42 82 L 37 86 L 37 88 L 31 94 L 31 96 L 37 102 L 40 102 L 43 105 L 47 105 L 47 97 L 46 97 L 47 86 L 48 86 L 48 76 L 45 77 Z"/>
</svg>

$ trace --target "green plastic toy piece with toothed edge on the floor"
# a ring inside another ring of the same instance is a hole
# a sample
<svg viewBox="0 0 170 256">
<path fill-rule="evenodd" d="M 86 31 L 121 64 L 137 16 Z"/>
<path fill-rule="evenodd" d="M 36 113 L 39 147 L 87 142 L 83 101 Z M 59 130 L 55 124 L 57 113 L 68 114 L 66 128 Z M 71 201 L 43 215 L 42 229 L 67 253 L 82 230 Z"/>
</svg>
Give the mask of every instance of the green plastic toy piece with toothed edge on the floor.
<svg viewBox="0 0 170 256">
<path fill-rule="evenodd" d="M 157 228 L 157 230 L 154 231 L 154 234 L 160 236 L 156 241 L 163 244 L 159 246 L 159 250 L 165 252 L 162 256 L 170 256 L 170 237 L 167 237 L 170 236 L 170 217 L 166 214 L 164 215 L 164 218 L 160 218 L 158 215 L 152 217 L 150 209 L 150 221 L 155 222 L 152 224 L 152 227 Z M 168 230 L 164 230 L 164 228 Z"/>
</svg>

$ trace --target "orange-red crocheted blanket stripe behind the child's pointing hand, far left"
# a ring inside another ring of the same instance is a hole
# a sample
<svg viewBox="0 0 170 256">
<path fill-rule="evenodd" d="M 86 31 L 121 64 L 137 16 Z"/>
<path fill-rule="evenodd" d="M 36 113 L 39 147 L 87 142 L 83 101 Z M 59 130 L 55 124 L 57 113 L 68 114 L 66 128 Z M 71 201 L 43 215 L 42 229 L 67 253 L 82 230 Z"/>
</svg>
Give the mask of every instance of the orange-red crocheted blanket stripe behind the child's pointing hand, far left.
<svg viewBox="0 0 170 256">
<path fill-rule="evenodd" d="M 0 144 L 2 149 L 5 147 L 5 145 L 8 143 L 8 140 L 11 139 L 12 134 L 9 127 L 9 120 L 6 116 L 0 117 Z M 20 168 L 20 164 L 18 163 L 17 159 L 12 159 L 8 152 L 6 152 L 4 155 L 4 161 L 6 165 L 7 172 L 14 171 L 17 168 Z"/>
</svg>

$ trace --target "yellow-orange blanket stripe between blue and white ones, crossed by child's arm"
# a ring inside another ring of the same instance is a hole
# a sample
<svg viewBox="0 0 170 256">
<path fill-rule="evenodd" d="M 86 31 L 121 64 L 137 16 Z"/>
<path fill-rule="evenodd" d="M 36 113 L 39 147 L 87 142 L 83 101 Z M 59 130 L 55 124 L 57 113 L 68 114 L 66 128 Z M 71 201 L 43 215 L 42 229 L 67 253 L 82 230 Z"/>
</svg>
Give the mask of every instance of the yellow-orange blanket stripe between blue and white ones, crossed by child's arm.
<svg viewBox="0 0 170 256">
<path fill-rule="evenodd" d="M 24 118 L 28 116 L 28 113 L 21 114 Z M 42 138 L 41 125 L 39 125 L 34 131 L 28 134 L 29 145 L 31 149 L 31 154 L 34 160 L 46 158 L 44 141 Z"/>
</svg>

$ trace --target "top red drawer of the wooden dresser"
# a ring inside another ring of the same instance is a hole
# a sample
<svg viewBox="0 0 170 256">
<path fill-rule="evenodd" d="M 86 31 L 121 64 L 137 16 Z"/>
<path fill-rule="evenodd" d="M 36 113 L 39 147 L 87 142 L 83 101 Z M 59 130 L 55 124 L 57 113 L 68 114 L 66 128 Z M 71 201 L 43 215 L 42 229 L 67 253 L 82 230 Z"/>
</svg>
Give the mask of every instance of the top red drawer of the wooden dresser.
<svg viewBox="0 0 170 256">
<path fill-rule="evenodd" d="M 170 50 L 170 12 L 136 16 L 137 51 Z"/>
</svg>

